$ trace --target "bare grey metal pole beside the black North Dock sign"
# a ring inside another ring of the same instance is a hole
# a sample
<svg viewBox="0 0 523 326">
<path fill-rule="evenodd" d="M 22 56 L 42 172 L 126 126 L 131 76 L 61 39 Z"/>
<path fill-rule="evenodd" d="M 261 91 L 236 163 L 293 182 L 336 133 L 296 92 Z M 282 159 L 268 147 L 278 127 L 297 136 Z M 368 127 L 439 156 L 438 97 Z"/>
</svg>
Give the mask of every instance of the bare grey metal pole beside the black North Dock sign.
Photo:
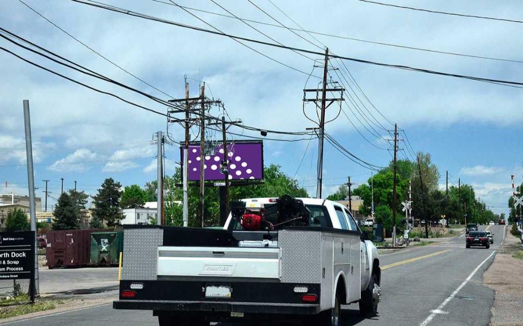
<svg viewBox="0 0 523 326">
<path fill-rule="evenodd" d="M 24 127 L 26 134 L 26 158 L 27 158 L 27 187 L 29 192 L 29 222 L 31 231 L 35 232 L 33 243 L 35 245 L 35 279 L 31 280 L 31 298 L 34 299 L 40 293 L 40 282 L 38 275 L 38 245 L 36 242 L 36 203 L 35 203 L 35 174 L 32 162 L 32 141 L 31 141 L 31 117 L 29 113 L 29 100 L 24 100 Z"/>
</svg>

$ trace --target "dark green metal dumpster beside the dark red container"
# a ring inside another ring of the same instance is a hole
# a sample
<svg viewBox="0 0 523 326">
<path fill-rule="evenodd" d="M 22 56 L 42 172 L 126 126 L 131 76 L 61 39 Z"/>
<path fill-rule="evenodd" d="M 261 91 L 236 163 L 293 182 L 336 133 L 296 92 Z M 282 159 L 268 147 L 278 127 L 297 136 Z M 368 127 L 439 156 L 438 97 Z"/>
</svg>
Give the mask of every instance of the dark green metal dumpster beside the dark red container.
<svg viewBox="0 0 523 326">
<path fill-rule="evenodd" d="M 91 233 L 91 259 L 93 265 L 118 265 L 123 250 L 123 232 Z"/>
</svg>

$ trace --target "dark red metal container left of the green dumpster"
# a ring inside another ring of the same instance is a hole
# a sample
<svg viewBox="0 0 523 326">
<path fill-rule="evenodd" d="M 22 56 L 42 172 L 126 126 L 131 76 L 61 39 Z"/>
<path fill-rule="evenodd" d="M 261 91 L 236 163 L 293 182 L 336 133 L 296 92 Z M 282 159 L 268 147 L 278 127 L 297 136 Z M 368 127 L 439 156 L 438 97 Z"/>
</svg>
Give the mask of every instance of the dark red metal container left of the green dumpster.
<svg viewBox="0 0 523 326">
<path fill-rule="evenodd" d="M 55 267 L 85 267 L 90 262 L 89 250 L 93 230 L 60 230 L 47 233 L 47 265 Z"/>
</svg>

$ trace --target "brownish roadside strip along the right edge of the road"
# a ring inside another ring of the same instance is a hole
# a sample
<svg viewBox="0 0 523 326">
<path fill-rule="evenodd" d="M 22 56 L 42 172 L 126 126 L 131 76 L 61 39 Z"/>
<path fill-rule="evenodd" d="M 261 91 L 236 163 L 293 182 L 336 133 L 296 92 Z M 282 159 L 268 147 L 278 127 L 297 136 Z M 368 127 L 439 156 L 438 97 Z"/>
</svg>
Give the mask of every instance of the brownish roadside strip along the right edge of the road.
<svg viewBox="0 0 523 326">
<path fill-rule="evenodd" d="M 509 232 L 491 267 L 483 276 L 483 284 L 496 292 L 491 308 L 492 326 L 522 326 L 523 315 L 523 260 L 512 255 L 520 251 L 520 240 Z"/>
</svg>

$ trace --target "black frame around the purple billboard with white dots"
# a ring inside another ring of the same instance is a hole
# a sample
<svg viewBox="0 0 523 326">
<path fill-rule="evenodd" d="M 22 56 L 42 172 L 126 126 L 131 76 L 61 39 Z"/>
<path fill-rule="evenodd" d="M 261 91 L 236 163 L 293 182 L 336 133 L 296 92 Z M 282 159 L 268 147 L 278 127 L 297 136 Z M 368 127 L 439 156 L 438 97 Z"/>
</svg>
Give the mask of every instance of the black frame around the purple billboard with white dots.
<svg viewBox="0 0 523 326">
<path fill-rule="evenodd" d="M 214 141 L 213 144 L 216 146 L 223 145 L 222 141 Z M 264 159 L 264 144 L 263 140 L 235 140 L 235 141 L 229 141 L 227 140 L 227 146 L 230 146 L 231 144 L 260 144 L 261 146 L 261 179 L 244 179 L 244 180 L 238 180 L 238 179 L 231 179 L 229 181 L 229 186 L 252 186 L 252 185 L 260 185 L 265 183 L 265 159 Z M 181 171 L 184 171 L 184 160 L 183 154 L 184 154 L 184 143 L 180 145 L 180 167 Z M 189 146 L 200 146 L 199 141 L 190 141 Z M 184 174 L 181 173 L 181 183 L 176 184 L 176 186 L 182 186 L 184 182 Z M 189 186 L 199 186 L 200 182 L 197 180 L 189 180 L 188 182 Z M 206 187 L 224 187 L 225 186 L 225 179 L 217 179 L 217 180 L 205 180 L 204 182 Z"/>
</svg>

